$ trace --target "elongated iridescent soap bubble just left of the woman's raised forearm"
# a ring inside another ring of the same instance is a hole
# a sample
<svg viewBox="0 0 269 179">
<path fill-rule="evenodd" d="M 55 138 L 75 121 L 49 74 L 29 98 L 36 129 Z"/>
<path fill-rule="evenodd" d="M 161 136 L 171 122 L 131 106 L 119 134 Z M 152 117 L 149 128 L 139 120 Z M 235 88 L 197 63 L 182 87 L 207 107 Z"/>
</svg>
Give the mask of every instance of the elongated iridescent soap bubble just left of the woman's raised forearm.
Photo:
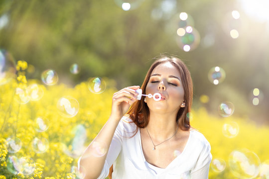
<svg viewBox="0 0 269 179">
<path fill-rule="evenodd" d="M 82 124 L 75 126 L 70 137 L 63 139 L 63 152 L 72 158 L 80 157 L 84 152 L 86 139 L 87 132 L 85 127 Z"/>
</svg>

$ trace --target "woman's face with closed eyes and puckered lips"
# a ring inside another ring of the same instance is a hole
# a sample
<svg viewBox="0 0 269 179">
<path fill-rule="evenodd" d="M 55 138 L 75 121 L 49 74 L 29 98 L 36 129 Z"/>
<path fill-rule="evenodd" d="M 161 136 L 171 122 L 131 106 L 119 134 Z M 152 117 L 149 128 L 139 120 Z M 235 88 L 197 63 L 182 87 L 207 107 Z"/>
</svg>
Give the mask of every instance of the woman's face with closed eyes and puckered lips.
<svg viewBox="0 0 269 179">
<path fill-rule="evenodd" d="M 156 92 L 161 94 L 161 100 L 155 101 L 146 97 L 150 111 L 177 112 L 184 102 L 184 89 L 178 69 L 166 62 L 158 65 L 152 71 L 146 86 L 146 94 Z M 183 106 L 182 106 L 183 107 Z"/>
</svg>

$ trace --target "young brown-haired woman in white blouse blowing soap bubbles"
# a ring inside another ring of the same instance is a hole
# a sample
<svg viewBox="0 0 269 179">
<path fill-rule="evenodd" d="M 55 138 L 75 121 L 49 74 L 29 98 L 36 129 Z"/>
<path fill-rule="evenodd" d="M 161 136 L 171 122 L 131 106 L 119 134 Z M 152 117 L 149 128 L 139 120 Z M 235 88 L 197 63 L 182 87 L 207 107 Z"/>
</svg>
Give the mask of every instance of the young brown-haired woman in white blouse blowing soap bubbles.
<svg viewBox="0 0 269 179">
<path fill-rule="evenodd" d="M 107 123 L 79 159 L 85 179 L 208 179 L 211 147 L 190 126 L 193 87 L 186 65 L 167 56 L 151 65 L 142 94 L 161 99 L 137 100 L 136 89 L 114 93 Z"/>
</svg>

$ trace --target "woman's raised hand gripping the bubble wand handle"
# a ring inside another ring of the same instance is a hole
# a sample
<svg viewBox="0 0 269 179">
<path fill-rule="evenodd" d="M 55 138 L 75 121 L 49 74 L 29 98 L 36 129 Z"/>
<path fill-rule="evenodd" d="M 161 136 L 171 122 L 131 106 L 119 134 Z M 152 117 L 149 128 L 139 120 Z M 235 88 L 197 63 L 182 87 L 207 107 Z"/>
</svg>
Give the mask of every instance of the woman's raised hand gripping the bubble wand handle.
<svg viewBox="0 0 269 179">
<path fill-rule="evenodd" d="M 135 90 L 139 88 L 139 86 L 132 86 L 115 92 L 112 98 L 111 116 L 120 120 L 136 100 L 138 93 Z"/>
</svg>

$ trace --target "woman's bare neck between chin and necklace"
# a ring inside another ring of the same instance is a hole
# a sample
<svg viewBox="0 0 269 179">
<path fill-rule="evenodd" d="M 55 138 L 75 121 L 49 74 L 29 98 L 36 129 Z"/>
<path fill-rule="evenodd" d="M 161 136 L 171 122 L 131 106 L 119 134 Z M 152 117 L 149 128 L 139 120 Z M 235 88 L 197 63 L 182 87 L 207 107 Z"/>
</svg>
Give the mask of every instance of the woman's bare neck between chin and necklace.
<svg viewBox="0 0 269 179">
<path fill-rule="evenodd" d="M 176 115 L 150 113 L 147 130 L 152 139 L 166 140 L 177 131 Z"/>
</svg>

